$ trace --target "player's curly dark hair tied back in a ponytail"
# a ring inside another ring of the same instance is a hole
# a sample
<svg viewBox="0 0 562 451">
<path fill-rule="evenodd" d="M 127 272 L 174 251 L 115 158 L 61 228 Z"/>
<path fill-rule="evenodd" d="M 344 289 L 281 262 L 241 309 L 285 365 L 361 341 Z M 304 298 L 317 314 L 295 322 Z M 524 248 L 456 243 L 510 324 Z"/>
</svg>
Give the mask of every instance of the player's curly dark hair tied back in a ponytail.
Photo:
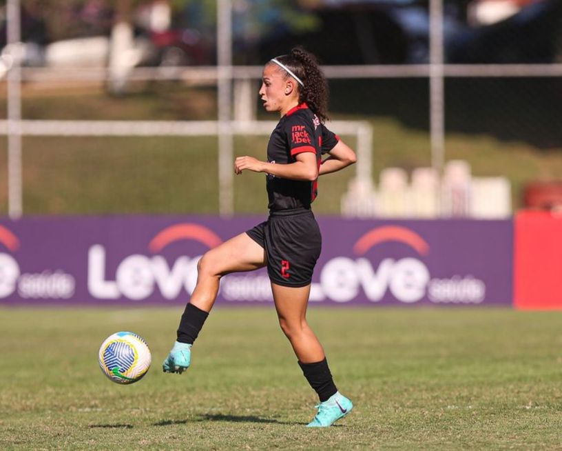
<svg viewBox="0 0 562 451">
<path fill-rule="evenodd" d="M 299 103 L 306 102 L 309 108 L 315 112 L 324 123 L 328 117 L 328 97 L 329 89 L 326 77 L 322 74 L 316 57 L 298 46 L 291 50 L 289 54 L 275 57 L 277 61 L 287 66 L 304 86 L 298 85 Z M 288 72 L 286 78 L 291 77 Z"/>
</svg>

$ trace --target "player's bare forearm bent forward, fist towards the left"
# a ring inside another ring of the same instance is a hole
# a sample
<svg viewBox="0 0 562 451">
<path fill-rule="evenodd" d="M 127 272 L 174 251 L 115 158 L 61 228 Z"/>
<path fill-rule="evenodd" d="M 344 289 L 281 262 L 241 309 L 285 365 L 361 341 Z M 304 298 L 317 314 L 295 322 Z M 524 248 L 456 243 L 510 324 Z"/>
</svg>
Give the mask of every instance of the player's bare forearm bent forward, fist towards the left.
<svg viewBox="0 0 562 451">
<path fill-rule="evenodd" d="M 294 163 L 275 164 L 260 161 L 253 157 L 238 157 L 234 162 L 234 172 L 241 174 L 243 170 L 253 172 L 266 172 L 275 177 L 289 180 L 314 181 L 318 179 L 318 166 L 316 154 L 313 152 L 300 152 L 295 155 Z"/>
</svg>

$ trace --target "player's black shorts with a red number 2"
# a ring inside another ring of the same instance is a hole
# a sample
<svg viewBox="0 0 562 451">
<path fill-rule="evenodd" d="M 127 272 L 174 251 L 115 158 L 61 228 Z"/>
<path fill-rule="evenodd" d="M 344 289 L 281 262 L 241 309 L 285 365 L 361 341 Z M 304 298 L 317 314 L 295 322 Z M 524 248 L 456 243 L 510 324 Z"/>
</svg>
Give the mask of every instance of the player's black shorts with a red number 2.
<svg viewBox="0 0 562 451">
<path fill-rule="evenodd" d="M 265 250 L 269 280 L 286 287 L 311 283 L 322 250 L 322 235 L 311 210 L 271 212 L 267 221 L 246 233 Z"/>
</svg>

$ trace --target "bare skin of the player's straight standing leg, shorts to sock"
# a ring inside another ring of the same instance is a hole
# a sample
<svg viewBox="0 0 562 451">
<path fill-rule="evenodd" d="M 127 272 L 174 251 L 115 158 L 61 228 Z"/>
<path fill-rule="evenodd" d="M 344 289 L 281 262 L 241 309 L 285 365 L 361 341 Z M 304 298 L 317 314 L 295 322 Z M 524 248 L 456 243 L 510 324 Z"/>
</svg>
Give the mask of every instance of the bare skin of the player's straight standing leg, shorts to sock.
<svg viewBox="0 0 562 451">
<path fill-rule="evenodd" d="M 319 362 L 325 357 L 320 341 L 306 322 L 310 288 L 310 285 L 292 288 L 271 283 L 279 324 L 302 363 Z"/>
</svg>

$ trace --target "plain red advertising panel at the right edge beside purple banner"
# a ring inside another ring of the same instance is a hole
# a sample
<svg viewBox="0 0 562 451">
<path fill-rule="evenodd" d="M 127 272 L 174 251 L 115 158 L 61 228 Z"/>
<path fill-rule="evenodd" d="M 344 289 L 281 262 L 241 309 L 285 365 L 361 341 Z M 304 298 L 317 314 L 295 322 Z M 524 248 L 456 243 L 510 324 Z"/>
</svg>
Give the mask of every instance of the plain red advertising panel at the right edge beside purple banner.
<svg viewBox="0 0 562 451">
<path fill-rule="evenodd" d="M 514 305 L 527 310 L 562 309 L 562 215 L 517 214 Z"/>
</svg>

